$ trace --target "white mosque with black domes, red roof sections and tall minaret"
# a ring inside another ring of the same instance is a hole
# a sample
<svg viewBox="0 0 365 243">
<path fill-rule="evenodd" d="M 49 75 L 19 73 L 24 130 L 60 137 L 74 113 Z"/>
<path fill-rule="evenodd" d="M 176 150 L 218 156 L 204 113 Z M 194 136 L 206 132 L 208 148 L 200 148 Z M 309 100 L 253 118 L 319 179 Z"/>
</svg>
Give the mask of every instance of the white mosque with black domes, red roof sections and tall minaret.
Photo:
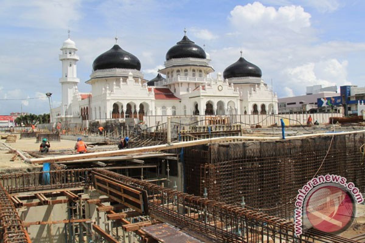
<svg viewBox="0 0 365 243">
<path fill-rule="evenodd" d="M 139 59 L 116 43 L 93 62 L 86 81 L 90 93 L 78 91 L 77 48 L 70 38 L 62 44 L 61 106 L 52 120 L 82 122 L 147 115 L 277 114 L 277 95 L 262 80 L 256 65 L 242 57 L 223 75 L 214 72 L 210 55 L 186 35 L 166 53 L 165 68 L 147 81 Z M 116 42 L 118 38 L 115 38 Z M 162 76 L 162 75 L 164 76 Z M 165 78 L 164 78 L 165 77 Z"/>
</svg>

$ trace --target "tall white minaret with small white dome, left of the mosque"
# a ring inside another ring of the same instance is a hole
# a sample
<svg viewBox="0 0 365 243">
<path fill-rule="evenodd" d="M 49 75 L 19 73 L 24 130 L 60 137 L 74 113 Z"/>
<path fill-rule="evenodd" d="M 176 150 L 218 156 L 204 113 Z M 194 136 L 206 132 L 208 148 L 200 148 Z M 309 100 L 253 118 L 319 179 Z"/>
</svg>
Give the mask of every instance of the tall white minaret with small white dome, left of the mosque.
<svg viewBox="0 0 365 243">
<path fill-rule="evenodd" d="M 59 82 L 62 86 L 62 104 L 61 104 L 61 114 L 71 115 L 70 104 L 72 102 L 72 97 L 77 91 L 77 84 L 80 79 L 77 78 L 77 65 L 76 62 L 79 60 L 76 54 L 77 48 L 75 42 L 70 39 L 70 30 L 68 31 L 69 38 L 65 40 L 62 44 L 61 51 L 62 54 L 59 55 L 59 60 L 62 62 L 62 76 Z M 65 108 L 66 107 L 66 108 Z"/>
</svg>

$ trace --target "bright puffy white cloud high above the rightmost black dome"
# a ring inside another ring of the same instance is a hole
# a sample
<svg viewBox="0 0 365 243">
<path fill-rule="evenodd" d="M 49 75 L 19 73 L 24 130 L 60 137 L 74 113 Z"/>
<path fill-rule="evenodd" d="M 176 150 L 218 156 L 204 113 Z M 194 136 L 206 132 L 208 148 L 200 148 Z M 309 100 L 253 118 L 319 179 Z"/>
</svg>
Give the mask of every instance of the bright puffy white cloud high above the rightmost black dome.
<svg viewBox="0 0 365 243">
<path fill-rule="evenodd" d="M 260 2 L 245 6 L 237 5 L 230 12 L 228 19 L 235 27 L 243 29 L 249 26 L 300 32 L 303 28 L 311 26 L 311 15 L 305 12 L 301 6 L 283 6 L 276 10 L 274 7 L 266 7 Z"/>
</svg>

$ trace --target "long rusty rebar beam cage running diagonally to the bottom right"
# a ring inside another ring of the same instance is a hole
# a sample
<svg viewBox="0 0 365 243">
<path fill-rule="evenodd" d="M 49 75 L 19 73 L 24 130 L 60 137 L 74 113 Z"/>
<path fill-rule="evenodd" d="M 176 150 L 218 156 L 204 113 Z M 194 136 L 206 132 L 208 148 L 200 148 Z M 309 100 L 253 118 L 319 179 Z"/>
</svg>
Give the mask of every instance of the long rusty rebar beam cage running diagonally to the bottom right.
<svg viewBox="0 0 365 243">
<path fill-rule="evenodd" d="M 145 189 L 150 199 L 151 215 L 171 221 L 212 242 L 356 243 L 354 240 L 317 231 L 306 232 L 297 238 L 294 235 L 294 224 L 285 219 L 166 189 L 105 169 L 93 169 L 93 172 Z"/>
</svg>

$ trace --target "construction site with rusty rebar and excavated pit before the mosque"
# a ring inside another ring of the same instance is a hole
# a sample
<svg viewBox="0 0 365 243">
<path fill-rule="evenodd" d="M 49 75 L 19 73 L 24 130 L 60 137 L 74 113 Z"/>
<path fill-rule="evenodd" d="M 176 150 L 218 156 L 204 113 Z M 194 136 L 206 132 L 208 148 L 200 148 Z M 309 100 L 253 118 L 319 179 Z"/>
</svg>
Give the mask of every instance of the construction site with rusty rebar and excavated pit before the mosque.
<svg viewBox="0 0 365 243">
<path fill-rule="evenodd" d="M 363 122 L 291 117 L 283 131 L 280 118 L 3 131 L 0 242 L 365 242 L 363 204 L 341 234 L 296 236 L 294 225 L 298 190 L 315 176 L 341 175 L 365 192 Z M 128 146 L 118 149 L 124 137 Z M 45 138 L 50 149 L 41 153 Z M 74 149 L 78 138 L 87 153 Z"/>
</svg>

